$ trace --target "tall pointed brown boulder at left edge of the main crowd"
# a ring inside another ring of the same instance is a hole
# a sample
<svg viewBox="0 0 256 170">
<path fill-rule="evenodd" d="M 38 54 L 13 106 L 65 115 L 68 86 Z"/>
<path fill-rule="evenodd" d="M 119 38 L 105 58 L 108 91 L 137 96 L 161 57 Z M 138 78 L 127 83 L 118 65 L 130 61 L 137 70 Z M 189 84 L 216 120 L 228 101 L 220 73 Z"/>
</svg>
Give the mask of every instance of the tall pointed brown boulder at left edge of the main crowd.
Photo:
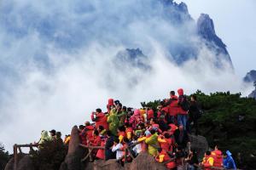
<svg viewBox="0 0 256 170">
<path fill-rule="evenodd" d="M 81 162 L 83 156 L 85 156 L 85 150 L 79 146 L 79 128 L 73 127 L 71 132 L 71 139 L 68 145 L 68 152 L 65 161 L 61 163 L 60 170 L 82 170 L 84 164 Z"/>
</svg>

